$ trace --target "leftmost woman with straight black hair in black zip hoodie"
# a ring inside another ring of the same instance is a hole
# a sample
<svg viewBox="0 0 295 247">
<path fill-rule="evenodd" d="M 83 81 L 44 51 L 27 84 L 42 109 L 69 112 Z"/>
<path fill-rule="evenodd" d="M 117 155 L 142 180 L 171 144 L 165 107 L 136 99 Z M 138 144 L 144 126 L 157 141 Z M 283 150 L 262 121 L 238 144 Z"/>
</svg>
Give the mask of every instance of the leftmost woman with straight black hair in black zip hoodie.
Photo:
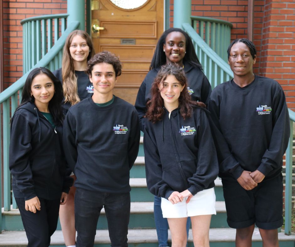
<svg viewBox="0 0 295 247">
<path fill-rule="evenodd" d="M 62 150 L 62 97 L 62 84 L 51 71 L 35 68 L 11 119 L 9 169 L 28 246 L 50 245 L 72 185 Z"/>
</svg>

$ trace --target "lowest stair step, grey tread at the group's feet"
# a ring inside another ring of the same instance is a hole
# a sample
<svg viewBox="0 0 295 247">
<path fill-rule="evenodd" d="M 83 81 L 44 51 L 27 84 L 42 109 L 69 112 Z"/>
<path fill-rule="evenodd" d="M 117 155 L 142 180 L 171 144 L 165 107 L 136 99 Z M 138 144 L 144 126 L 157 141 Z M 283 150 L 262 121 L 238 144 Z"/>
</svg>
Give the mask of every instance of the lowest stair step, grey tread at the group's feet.
<svg viewBox="0 0 295 247">
<path fill-rule="evenodd" d="M 211 247 L 234 247 L 235 241 L 235 229 L 210 229 L 209 239 Z M 259 230 L 255 228 L 252 237 L 253 247 L 262 246 L 262 240 L 259 234 Z M 171 242 L 169 232 L 169 242 Z M 290 236 L 285 235 L 283 232 L 279 233 L 280 247 L 294 247 L 295 234 Z M 24 231 L 8 231 L 0 234 L 0 246 L 26 246 L 27 238 Z M 51 237 L 51 246 L 64 247 L 64 241 L 61 231 L 56 231 Z M 106 247 L 110 246 L 109 232 L 108 230 L 97 230 L 94 240 L 94 246 Z M 128 230 L 128 246 L 131 247 L 157 247 L 158 239 L 155 229 L 135 229 Z M 190 230 L 188 246 L 193 247 L 192 232 Z"/>
</svg>

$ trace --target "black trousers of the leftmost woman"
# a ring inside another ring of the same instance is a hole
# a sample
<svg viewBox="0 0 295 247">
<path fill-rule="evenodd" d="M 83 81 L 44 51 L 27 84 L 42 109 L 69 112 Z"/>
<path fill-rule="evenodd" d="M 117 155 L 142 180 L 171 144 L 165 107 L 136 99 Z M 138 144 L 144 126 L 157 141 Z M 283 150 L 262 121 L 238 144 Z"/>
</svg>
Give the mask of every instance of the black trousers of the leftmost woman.
<svg viewBox="0 0 295 247">
<path fill-rule="evenodd" d="M 39 198 L 41 210 L 36 213 L 25 210 L 24 198 L 15 198 L 15 201 L 28 238 L 28 247 L 49 246 L 50 237 L 57 226 L 60 199 Z"/>
</svg>

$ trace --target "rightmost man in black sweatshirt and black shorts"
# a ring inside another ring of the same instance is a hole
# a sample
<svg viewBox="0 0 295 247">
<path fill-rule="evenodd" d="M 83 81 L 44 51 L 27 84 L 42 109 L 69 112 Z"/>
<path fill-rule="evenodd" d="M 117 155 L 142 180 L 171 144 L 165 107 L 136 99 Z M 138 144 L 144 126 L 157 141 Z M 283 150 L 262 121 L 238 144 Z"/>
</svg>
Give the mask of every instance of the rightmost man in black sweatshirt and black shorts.
<svg viewBox="0 0 295 247">
<path fill-rule="evenodd" d="M 290 136 L 285 94 L 278 82 L 254 75 L 256 48 L 248 39 L 228 47 L 233 80 L 217 86 L 208 109 L 215 126 L 228 225 L 236 246 L 251 246 L 255 224 L 263 246 L 278 247 L 282 226 L 282 157 Z"/>
</svg>

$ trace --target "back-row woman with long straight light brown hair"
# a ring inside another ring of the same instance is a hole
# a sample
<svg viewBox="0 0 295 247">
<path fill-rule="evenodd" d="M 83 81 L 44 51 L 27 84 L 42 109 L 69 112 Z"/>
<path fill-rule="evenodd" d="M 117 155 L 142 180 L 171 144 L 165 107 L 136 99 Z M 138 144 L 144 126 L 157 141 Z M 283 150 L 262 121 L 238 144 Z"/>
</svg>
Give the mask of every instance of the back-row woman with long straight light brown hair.
<svg viewBox="0 0 295 247">
<path fill-rule="evenodd" d="M 68 109 L 81 100 L 93 95 L 93 86 L 89 76 L 84 72 L 87 61 L 95 54 L 92 40 L 85 31 L 72 31 L 66 39 L 63 47 L 62 68 L 53 72 L 62 81 L 63 109 L 66 114 Z M 75 180 L 76 177 L 72 173 Z M 74 216 L 74 196 L 76 188 L 70 188 L 68 202 L 60 207 L 59 218 L 62 226 L 62 234 L 66 246 L 75 246 L 76 230 Z"/>
</svg>

